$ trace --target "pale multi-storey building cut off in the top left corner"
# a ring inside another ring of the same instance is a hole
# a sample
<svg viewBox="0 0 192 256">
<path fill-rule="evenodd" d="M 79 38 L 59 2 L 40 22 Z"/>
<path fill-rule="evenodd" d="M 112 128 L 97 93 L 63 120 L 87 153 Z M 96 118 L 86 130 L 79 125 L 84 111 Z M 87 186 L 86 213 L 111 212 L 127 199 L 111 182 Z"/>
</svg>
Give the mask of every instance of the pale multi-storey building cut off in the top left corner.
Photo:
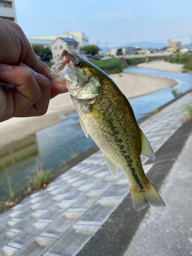
<svg viewBox="0 0 192 256">
<path fill-rule="evenodd" d="M 0 0 L 0 18 L 17 22 L 14 0 Z"/>
</svg>

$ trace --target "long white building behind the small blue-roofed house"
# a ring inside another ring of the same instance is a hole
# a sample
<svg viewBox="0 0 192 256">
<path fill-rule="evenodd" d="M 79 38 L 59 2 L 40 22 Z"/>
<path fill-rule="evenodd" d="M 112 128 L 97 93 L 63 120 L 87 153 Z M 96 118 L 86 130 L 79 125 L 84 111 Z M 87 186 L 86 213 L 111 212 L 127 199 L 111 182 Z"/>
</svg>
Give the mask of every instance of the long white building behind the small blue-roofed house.
<svg viewBox="0 0 192 256">
<path fill-rule="evenodd" d="M 1 1 L 1 0 L 0 0 Z M 51 40 L 50 44 L 56 39 L 56 38 L 70 38 L 79 43 L 79 47 L 83 47 L 88 45 L 89 42 L 89 37 L 84 34 L 84 32 L 70 32 L 70 33 L 65 33 L 65 34 L 60 34 L 60 35 L 45 35 L 45 36 L 33 36 L 33 37 L 28 37 L 28 40 L 36 40 L 35 43 L 36 45 L 43 45 L 45 43 L 45 40 Z M 39 40 L 39 42 L 38 42 Z"/>
</svg>

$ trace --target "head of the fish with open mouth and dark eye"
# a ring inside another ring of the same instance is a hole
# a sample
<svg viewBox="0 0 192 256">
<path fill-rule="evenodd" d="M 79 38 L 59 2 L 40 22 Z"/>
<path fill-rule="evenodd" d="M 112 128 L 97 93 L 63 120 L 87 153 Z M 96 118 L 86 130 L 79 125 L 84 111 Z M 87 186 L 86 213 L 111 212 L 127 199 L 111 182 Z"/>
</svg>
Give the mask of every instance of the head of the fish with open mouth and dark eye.
<svg viewBox="0 0 192 256">
<path fill-rule="evenodd" d="M 72 54 L 68 50 L 63 50 L 52 66 L 49 78 L 51 81 L 60 83 L 65 81 L 69 93 L 76 97 L 93 75 L 93 68 L 86 59 L 77 54 Z"/>
</svg>

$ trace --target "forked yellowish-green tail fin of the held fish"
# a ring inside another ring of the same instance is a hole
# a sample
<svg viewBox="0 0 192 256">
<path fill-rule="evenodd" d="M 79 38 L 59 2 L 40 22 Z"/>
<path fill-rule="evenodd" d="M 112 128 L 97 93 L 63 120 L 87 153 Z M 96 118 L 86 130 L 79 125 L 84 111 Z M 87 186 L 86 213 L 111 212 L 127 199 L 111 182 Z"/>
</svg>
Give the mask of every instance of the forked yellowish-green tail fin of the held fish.
<svg viewBox="0 0 192 256">
<path fill-rule="evenodd" d="M 155 190 L 154 186 L 148 181 L 149 189 L 132 190 L 130 188 L 130 194 L 132 197 L 133 206 L 136 211 L 140 211 L 148 204 L 156 207 L 164 207 L 165 203 L 160 195 Z"/>
</svg>

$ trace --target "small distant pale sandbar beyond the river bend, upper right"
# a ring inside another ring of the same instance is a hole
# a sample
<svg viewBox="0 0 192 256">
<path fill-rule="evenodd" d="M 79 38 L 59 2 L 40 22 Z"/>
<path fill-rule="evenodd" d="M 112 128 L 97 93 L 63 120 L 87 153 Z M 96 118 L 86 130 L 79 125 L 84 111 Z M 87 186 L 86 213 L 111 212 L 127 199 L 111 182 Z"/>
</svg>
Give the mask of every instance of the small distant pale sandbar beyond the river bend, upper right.
<svg viewBox="0 0 192 256">
<path fill-rule="evenodd" d="M 139 63 L 137 65 L 138 68 L 144 69 L 155 69 L 165 72 L 173 72 L 173 73 L 182 73 L 183 72 L 183 64 L 176 64 L 166 62 L 165 60 L 154 60 L 150 62 Z"/>
</svg>

